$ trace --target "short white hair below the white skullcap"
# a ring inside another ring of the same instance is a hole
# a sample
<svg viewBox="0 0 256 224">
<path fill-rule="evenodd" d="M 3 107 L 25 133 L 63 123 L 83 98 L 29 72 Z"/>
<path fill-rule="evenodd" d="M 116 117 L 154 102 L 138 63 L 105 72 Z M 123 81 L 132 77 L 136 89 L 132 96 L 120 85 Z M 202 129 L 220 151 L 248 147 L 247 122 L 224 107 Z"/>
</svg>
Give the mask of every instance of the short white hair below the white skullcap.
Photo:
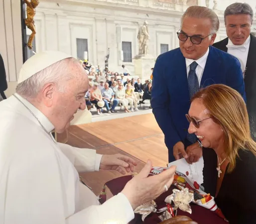
<svg viewBox="0 0 256 224">
<path fill-rule="evenodd" d="M 16 87 L 16 93 L 25 99 L 33 99 L 48 83 L 55 84 L 57 91 L 65 92 L 65 85 L 63 85 L 63 83 L 74 78 L 74 74 L 71 74 L 70 69 L 74 63 L 80 65 L 77 59 L 66 58 L 48 66 L 22 83 L 19 83 Z"/>
</svg>

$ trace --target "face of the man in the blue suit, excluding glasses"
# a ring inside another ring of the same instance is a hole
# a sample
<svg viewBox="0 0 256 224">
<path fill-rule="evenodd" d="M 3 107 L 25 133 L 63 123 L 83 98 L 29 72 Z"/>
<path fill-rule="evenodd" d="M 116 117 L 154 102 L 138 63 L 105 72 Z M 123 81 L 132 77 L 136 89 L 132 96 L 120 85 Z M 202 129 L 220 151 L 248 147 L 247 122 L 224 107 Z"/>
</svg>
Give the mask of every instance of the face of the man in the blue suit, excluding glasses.
<svg viewBox="0 0 256 224">
<path fill-rule="evenodd" d="M 185 17 L 180 32 L 188 36 L 206 37 L 200 44 L 191 42 L 190 37 L 186 41 L 179 40 L 180 50 L 185 58 L 197 60 L 207 51 L 208 47 L 214 43 L 216 34 L 211 34 L 211 20 L 207 18 Z"/>
</svg>

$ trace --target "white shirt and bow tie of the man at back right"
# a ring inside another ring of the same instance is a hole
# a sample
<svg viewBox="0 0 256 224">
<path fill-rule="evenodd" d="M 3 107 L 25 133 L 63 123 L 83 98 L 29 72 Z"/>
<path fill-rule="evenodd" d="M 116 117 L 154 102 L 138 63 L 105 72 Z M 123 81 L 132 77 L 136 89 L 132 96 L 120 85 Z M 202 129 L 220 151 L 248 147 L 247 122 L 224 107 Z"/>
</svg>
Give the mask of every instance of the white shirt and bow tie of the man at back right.
<svg viewBox="0 0 256 224">
<path fill-rule="evenodd" d="M 228 53 L 235 56 L 240 61 L 243 76 L 246 70 L 246 63 L 247 63 L 247 57 L 248 57 L 248 52 L 250 47 L 250 41 L 251 41 L 251 37 L 249 35 L 246 42 L 242 45 L 234 45 L 230 39 L 229 39 L 228 45 L 226 45 L 226 47 L 228 48 Z"/>
</svg>

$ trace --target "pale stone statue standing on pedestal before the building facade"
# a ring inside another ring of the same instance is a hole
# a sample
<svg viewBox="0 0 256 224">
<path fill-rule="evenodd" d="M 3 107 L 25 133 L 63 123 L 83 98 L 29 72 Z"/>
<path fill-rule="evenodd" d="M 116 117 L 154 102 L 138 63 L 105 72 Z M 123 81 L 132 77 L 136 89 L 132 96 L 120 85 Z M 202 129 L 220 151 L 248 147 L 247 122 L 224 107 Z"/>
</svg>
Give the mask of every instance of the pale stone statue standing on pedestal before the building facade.
<svg viewBox="0 0 256 224">
<path fill-rule="evenodd" d="M 138 43 L 139 43 L 139 55 L 147 55 L 148 54 L 148 45 L 147 41 L 149 40 L 148 34 L 148 23 L 147 21 L 139 27 L 138 35 L 137 35 Z"/>
</svg>

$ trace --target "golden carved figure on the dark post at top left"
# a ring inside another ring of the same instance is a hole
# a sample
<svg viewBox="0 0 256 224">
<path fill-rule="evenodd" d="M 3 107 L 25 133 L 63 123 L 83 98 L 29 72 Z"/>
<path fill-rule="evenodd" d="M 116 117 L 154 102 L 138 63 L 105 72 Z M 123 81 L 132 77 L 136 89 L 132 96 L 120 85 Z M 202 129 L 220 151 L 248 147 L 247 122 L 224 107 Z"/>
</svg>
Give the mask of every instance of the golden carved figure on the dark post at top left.
<svg viewBox="0 0 256 224">
<path fill-rule="evenodd" d="M 25 19 L 25 24 L 27 28 L 29 28 L 32 31 L 31 35 L 29 36 L 27 46 L 29 49 L 32 49 L 32 41 L 36 34 L 33 18 L 35 16 L 35 8 L 39 4 L 39 0 L 24 0 L 24 3 L 26 3 L 27 5 L 27 18 Z"/>
</svg>

